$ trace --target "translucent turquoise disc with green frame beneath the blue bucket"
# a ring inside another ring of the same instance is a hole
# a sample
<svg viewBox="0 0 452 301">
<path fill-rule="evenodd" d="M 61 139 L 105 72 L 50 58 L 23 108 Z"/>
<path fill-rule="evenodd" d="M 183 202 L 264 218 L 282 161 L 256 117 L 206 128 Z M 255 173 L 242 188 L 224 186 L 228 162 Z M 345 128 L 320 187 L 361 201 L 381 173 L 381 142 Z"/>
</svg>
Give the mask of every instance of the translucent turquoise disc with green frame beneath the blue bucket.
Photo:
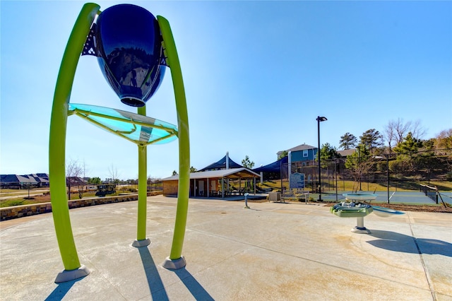
<svg viewBox="0 0 452 301">
<path fill-rule="evenodd" d="M 70 103 L 69 114 L 83 117 L 138 145 L 162 144 L 177 138 L 177 127 L 173 124 L 109 107 Z"/>
</svg>

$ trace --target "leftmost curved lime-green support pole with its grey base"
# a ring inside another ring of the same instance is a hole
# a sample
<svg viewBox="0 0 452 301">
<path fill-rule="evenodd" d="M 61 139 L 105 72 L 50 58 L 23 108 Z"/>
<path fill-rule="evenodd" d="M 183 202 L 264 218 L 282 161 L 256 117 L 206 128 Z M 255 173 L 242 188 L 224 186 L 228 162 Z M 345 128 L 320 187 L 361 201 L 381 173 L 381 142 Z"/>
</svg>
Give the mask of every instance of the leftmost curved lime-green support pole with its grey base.
<svg viewBox="0 0 452 301">
<path fill-rule="evenodd" d="M 71 98 L 71 89 L 78 59 L 80 58 L 83 45 L 85 45 L 86 37 L 90 32 L 91 24 L 99 9 L 100 6 L 97 4 L 85 4 L 78 15 L 61 60 L 52 106 L 49 133 L 50 195 L 55 232 L 65 269 L 57 276 L 55 280 L 57 283 L 81 278 L 90 273 L 85 266 L 81 266 L 78 260 L 69 218 L 65 168 L 66 126 L 68 104 Z"/>
</svg>

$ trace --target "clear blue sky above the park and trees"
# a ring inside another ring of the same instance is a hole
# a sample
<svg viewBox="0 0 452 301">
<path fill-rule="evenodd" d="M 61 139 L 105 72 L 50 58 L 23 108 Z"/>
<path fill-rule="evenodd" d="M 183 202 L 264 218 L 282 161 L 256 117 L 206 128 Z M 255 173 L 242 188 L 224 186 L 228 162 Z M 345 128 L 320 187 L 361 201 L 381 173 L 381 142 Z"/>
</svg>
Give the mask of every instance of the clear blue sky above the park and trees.
<svg viewBox="0 0 452 301">
<path fill-rule="evenodd" d="M 84 1 L 0 1 L 0 173 L 48 172 L 61 57 Z M 98 1 L 101 10 L 121 4 Z M 452 1 L 129 1 L 172 27 L 186 88 L 191 165 L 227 151 L 255 166 L 302 143 L 420 122 L 452 127 Z M 82 57 L 71 102 L 122 104 L 95 57 Z M 170 70 L 147 114 L 177 124 Z M 136 145 L 69 117 L 66 160 L 89 177 L 138 177 Z M 148 175 L 178 170 L 177 141 L 148 147 Z"/>
</svg>

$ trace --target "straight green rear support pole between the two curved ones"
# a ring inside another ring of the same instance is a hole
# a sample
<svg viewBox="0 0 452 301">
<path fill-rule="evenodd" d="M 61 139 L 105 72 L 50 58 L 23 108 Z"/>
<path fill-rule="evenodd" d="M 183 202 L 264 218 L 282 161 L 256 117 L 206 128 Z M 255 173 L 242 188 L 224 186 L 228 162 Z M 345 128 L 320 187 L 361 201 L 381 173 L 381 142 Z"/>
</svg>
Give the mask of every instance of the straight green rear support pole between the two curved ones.
<svg viewBox="0 0 452 301">
<path fill-rule="evenodd" d="M 138 107 L 138 114 L 146 115 L 146 107 Z M 148 167 L 148 148 L 145 145 L 138 145 L 138 223 L 136 230 L 136 240 L 132 243 L 133 247 L 145 247 L 150 244 L 146 238 L 146 213 L 148 187 L 146 185 Z"/>
</svg>

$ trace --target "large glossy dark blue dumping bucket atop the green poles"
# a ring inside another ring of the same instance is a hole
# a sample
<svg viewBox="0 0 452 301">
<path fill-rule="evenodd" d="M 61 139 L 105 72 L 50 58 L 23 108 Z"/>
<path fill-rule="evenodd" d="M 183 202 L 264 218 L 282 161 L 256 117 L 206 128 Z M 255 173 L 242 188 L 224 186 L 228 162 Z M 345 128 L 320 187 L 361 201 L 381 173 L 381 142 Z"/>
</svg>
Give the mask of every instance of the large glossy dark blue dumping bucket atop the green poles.
<svg viewBox="0 0 452 301">
<path fill-rule="evenodd" d="M 165 76 L 157 19 L 140 6 L 119 4 L 102 11 L 93 27 L 97 61 L 121 102 L 143 107 Z"/>
</svg>

